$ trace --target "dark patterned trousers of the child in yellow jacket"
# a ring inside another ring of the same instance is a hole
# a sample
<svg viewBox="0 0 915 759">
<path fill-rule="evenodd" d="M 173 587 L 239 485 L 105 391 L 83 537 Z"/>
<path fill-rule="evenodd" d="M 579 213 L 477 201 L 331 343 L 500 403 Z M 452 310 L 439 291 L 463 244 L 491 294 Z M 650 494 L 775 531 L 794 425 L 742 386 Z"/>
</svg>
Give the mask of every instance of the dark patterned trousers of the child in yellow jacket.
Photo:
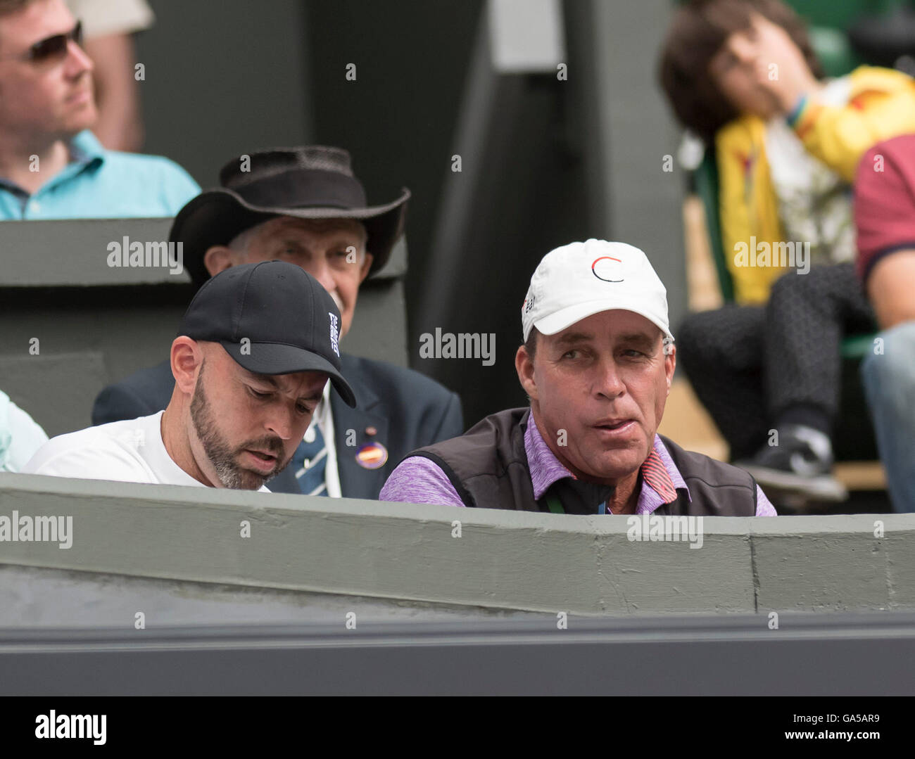
<svg viewBox="0 0 915 759">
<path fill-rule="evenodd" d="M 781 276 L 766 305 L 687 315 L 675 336 L 677 364 L 739 459 L 780 423 L 831 434 L 842 338 L 875 329 L 854 265 L 813 267 Z"/>
</svg>

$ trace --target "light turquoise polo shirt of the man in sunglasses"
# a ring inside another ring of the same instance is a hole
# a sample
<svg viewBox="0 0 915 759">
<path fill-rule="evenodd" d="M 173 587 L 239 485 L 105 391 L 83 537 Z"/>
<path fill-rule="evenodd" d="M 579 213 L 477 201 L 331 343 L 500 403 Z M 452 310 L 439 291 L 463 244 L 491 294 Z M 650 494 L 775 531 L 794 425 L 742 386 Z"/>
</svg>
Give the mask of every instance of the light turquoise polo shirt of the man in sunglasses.
<svg viewBox="0 0 915 759">
<path fill-rule="evenodd" d="M 70 163 L 34 195 L 0 177 L 0 220 L 175 216 L 200 192 L 174 161 L 105 150 L 88 129 L 68 147 Z"/>
</svg>

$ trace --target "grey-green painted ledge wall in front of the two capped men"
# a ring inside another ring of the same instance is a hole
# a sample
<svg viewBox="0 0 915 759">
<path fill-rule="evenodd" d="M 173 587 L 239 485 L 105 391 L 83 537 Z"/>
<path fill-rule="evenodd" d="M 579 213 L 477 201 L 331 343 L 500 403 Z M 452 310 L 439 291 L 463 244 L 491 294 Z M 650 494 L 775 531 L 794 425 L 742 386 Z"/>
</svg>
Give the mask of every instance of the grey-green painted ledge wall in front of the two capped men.
<svg viewBox="0 0 915 759">
<path fill-rule="evenodd" d="M 0 541 L 19 566 L 553 614 L 915 608 L 915 515 L 705 518 L 694 550 L 625 518 L 0 475 L 14 509 L 73 525 L 66 550 Z"/>
</svg>

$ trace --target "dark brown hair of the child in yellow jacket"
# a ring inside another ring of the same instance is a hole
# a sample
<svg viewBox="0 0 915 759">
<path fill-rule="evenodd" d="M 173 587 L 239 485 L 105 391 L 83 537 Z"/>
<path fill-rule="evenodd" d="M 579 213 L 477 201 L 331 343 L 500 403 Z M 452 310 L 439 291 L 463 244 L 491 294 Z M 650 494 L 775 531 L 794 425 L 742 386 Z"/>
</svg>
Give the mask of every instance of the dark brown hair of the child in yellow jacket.
<svg viewBox="0 0 915 759">
<path fill-rule="evenodd" d="M 712 144 L 715 133 L 740 115 L 717 88 L 708 65 L 727 37 L 751 26 L 754 12 L 783 28 L 813 76 L 823 79 L 803 21 L 780 0 L 689 0 L 667 31 L 658 79 L 677 118 L 705 144 Z"/>
</svg>

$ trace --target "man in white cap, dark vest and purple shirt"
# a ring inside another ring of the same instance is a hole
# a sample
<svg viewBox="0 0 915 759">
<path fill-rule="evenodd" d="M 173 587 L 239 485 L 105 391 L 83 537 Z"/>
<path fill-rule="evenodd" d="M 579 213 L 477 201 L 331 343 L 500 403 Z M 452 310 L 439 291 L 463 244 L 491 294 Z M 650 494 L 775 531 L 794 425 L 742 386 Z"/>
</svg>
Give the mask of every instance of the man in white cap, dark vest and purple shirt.
<svg viewBox="0 0 915 759">
<path fill-rule="evenodd" d="M 547 253 L 515 354 L 530 408 L 409 454 L 380 499 L 567 514 L 774 516 L 752 476 L 657 433 L 676 349 L 667 291 L 621 242 Z"/>
</svg>

